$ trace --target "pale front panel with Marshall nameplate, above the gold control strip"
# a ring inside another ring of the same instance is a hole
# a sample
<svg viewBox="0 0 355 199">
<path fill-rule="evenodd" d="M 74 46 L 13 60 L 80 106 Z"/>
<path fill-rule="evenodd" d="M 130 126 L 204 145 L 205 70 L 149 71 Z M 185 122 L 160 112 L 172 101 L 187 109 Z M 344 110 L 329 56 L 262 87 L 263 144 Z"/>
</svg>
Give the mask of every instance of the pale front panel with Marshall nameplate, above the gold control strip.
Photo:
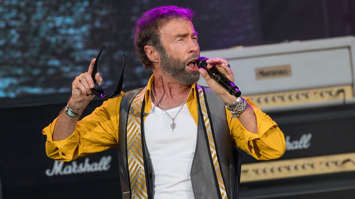
<svg viewBox="0 0 355 199">
<path fill-rule="evenodd" d="M 352 83 L 348 47 L 292 53 L 280 49 L 274 55 L 229 58 L 228 62 L 243 95 Z"/>
</svg>

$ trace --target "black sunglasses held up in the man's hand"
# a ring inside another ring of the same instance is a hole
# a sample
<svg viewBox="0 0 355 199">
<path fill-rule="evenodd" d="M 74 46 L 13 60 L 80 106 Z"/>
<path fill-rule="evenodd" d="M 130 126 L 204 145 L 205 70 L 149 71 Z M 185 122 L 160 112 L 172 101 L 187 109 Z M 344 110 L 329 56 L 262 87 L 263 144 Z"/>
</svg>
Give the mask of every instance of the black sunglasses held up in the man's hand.
<svg viewBox="0 0 355 199">
<path fill-rule="evenodd" d="M 96 82 L 95 80 L 95 74 L 97 73 L 97 61 L 99 60 L 99 57 L 102 53 L 102 51 L 104 50 L 105 46 L 101 49 L 101 51 L 99 52 L 99 55 L 97 56 L 95 63 L 94 63 L 94 68 L 92 70 L 91 73 L 91 77 L 94 80 L 94 87 L 91 89 L 92 93 L 94 93 L 94 95 L 104 98 L 104 99 L 109 99 L 109 98 L 115 98 L 121 95 L 121 90 L 122 90 L 122 85 L 123 85 L 123 72 L 125 69 L 125 54 L 123 54 L 123 66 L 122 66 L 122 70 L 121 70 L 121 77 L 118 83 L 118 86 L 116 88 L 116 91 L 113 93 L 113 95 L 107 95 L 107 93 L 101 89 L 100 85 Z"/>
</svg>

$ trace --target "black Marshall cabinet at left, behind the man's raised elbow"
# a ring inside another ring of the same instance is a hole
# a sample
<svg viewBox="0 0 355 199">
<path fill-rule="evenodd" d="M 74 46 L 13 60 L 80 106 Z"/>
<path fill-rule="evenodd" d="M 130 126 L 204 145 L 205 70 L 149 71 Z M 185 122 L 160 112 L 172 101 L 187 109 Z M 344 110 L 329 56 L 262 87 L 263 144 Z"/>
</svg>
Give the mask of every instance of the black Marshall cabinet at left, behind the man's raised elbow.
<svg viewBox="0 0 355 199">
<path fill-rule="evenodd" d="M 83 114 L 101 103 L 92 101 Z M 70 162 L 55 161 L 45 154 L 47 137 L 42 129 L 63 107 L 65 104 L 0 109 L 4 199 L 121 198 L 117 148 Z"/>
</svg>

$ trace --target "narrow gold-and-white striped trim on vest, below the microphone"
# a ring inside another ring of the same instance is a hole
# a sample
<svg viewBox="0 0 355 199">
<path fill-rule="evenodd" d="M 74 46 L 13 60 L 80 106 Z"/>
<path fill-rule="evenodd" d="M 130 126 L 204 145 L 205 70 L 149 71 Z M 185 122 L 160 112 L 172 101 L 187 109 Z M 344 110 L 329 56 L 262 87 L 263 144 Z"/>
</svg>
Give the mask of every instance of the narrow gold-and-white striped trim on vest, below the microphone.
<svg viewBox="0 0 355 199">
<path fill-rule="evenodd" d="M 202 112 L 202 115 L 203 115 L 203 121 L 204 121 L 204 125 L 206 127 L 206 132 L 207 132 L 207 137 L 208 137 L 208 142 L 209 142 L 208 143 L 209 144 L 209 149 L 211 150 L 211 157 L 212 157 L 212 160 L 213 160 L 214 170 L 215 170 L 216 176 L 217 176 L 219 190 L 220 190 L 222 199 L 226 199 L 227 198 L 227 193 L 225 191 L 223 177 L 222 177 L 222 173 L 221 173 L 220 167 L 219 167 L 217 152 L 216 152 L 216 148 L 215 148 L 215 144 L 214 144 L 211 125 L 210 125 L 209 119 L 208 119 L 207 107 L 206 107 L 206 103 L 204 101 L 204 95 L 203 95 L 202 87 L 200 85 L 197 85 L 197 90 L 198 90 L 198 96 L 199 96 L 199 100 L 200 100 L 201 112 Z"/>
</svg>

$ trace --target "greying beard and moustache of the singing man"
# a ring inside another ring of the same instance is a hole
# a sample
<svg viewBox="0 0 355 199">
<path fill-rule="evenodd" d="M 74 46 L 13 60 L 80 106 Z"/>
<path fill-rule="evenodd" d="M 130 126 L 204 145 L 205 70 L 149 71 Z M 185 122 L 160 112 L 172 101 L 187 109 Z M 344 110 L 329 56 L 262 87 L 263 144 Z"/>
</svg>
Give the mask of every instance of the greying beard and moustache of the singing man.
<svg viewBox="0 0 355 199">
<path fill-rule="evenodd" d="M 164 74 L 167 74 L 184 85 L 192 85 L 200 79 L 200 72 L 189 72 L 186 70 L 186 62 L 191 59 L 197 59 L 194 54 L 185 60 L 174 58 L 165 52 L 160 52 L 160 69 Z"/>
</svg>

